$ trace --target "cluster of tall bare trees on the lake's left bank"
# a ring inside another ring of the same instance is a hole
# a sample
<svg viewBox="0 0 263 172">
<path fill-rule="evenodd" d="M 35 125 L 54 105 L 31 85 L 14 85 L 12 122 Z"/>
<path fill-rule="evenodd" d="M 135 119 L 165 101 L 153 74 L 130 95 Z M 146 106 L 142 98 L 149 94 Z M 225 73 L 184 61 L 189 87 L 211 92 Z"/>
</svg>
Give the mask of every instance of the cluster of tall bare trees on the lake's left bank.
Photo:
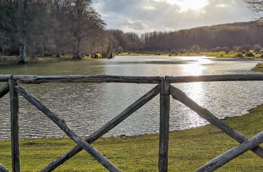
<svg viewBox="0 0 263 172">
<path fill-rule="evenodd" d="M 104 26 L 90 0 L 0 0 L 1 51 L 20 61 L 26 53 L 81 58 Z"/>
</svg>

